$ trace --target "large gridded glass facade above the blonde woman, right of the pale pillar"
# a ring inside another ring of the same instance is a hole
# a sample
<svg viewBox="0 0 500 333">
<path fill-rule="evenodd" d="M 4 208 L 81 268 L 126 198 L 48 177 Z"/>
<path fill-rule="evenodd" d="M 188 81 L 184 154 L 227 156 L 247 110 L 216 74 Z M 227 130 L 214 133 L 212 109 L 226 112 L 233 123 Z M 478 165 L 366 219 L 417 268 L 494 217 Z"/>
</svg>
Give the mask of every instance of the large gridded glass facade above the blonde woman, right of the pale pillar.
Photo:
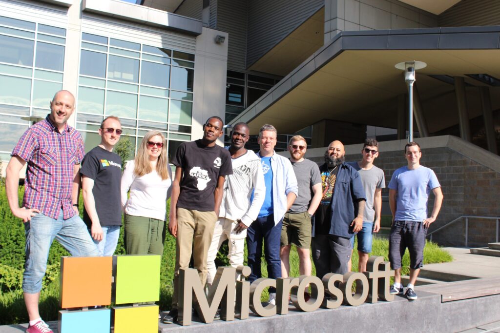
<svg viewBox="0 0 500 333">
<path fill-rule="evenodd" d="M 147 131 L 163 132 L 171 156 L 191 140 L 193 80 L 194 54 L 83 32 L 76 128 L 85 150 L 114 115 L 134 147 Z"/>
</svg>

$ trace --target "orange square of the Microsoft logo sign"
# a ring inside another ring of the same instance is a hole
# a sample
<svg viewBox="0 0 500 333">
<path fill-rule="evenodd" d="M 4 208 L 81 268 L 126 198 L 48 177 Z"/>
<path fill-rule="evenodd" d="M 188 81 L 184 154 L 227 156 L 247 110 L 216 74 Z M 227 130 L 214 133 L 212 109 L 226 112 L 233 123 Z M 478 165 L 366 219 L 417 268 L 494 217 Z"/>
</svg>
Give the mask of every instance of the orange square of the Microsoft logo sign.
<svg viewBox="0 0 500 333">
<path fill-rule="evenodd" d="M 112 257 L 61 257 L 63 309 L 111 304 Z"/>
</svg>

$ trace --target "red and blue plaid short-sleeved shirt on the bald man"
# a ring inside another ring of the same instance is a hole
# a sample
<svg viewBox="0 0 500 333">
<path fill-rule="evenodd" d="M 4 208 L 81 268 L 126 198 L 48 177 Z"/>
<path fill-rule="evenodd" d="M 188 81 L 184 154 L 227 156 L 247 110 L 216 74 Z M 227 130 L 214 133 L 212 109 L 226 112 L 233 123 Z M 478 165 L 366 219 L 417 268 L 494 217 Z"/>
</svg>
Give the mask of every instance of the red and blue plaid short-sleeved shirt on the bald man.
<svg viewBox="0 0 500 333">
<path fill-rule="evenodd" d="M 76 215 L 72 208 L 73 167 L 84 155 L 80 133 L 65 124 L 62 133 L 47 117 L 22 134 L 11 156 L 27 162 L 22 206 L 52 219 Z"/>
</svg>

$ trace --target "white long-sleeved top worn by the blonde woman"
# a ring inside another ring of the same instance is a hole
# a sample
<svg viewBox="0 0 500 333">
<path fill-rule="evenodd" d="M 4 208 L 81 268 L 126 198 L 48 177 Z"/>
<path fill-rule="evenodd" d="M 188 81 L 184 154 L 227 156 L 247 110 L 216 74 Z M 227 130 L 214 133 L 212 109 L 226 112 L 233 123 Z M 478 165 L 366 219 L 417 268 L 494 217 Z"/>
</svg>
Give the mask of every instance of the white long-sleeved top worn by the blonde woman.
<svg viewBox="0 0 500 333">
<path fill-rule="evenodd" d="M 156 170 L 137 177 L 133 173 L 135 163 L 128 161 L 121 176 L 121 208 L 128 215 L 166 220 L 166 200 L 170 197 L 172 175 L 162 180 Z M 130 189 L 130 197 L 127 192 Z"/>
</svg>

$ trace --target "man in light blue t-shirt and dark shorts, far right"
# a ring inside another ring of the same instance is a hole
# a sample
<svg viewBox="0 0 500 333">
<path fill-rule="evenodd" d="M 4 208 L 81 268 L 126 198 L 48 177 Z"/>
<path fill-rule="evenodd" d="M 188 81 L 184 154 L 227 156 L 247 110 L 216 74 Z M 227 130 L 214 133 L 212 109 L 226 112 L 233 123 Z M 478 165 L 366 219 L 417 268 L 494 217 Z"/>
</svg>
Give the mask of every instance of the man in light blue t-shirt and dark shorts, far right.
<svg viewBox="0 0 500 333">
<path fill-rule="evenodd" d="M 435 221 L 441 209 L 441 185 L 434 172 L 421 166 L 420 146 L 409 142 L 404 146 L 408 165 L 394 171 L 389 182 L 389 205 L 392 225 L 389 235 L 389 261 L 395 271 L 394 285 L 390 287 L 393 295 L 402 295 L 401 258 L 406 248 L 409 251 L 410 270 L 406 298 L 416 300 L 414 285 L 420 268 L 423 266 L 423 247 L 429 225 Z M 434 208 L 427 217 L 427 201 L 430 191 L 434 193 Z"/>
</svg>

